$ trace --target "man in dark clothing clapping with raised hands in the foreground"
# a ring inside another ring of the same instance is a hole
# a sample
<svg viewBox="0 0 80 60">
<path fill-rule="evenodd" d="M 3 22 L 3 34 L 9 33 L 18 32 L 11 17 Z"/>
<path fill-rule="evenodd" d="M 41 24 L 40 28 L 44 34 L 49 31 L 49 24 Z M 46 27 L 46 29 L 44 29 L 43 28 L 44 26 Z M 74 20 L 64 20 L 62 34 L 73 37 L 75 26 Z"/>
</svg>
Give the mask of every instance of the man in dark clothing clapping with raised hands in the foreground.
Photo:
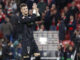
<svg viewBox="0 0 80 60">
<path fill-rule="evenodd" d="M 23 60 L 30 60 L 31 55 L 39 56 L 38 47 L 33 38 L 33 24 L 39 17 L 39 13 L 34 12 L 32 16 L 28 16 L 28 7 L 26 4 L 22 3 L 20 5 L 20 11 L 22 15 L 18 23 L 20 24 L 20 34 L 22 35 L 22 57 Z"/>
</svg>

